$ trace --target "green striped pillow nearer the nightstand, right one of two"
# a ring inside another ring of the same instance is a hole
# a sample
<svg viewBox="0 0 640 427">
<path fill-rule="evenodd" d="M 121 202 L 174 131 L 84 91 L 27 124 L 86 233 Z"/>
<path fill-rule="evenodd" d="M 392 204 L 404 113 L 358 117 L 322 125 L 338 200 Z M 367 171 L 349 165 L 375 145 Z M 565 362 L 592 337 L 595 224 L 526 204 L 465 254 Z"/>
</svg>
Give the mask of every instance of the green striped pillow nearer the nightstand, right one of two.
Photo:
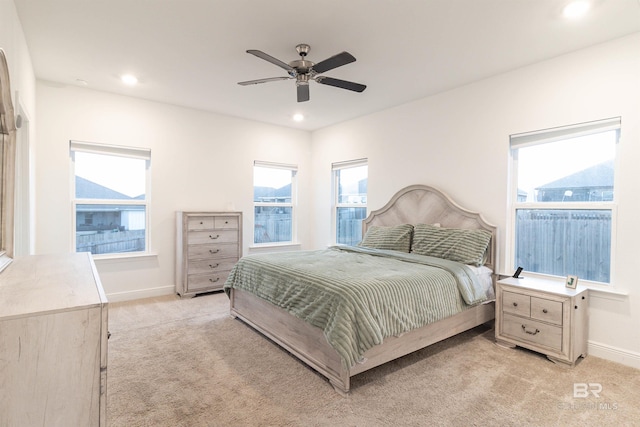
<svg viewBox="0 0 640 427">
<path fill-rule="evenodd" d="M 416 224 L 411 252 L 480 266 L 490 240 L 487 230 Z"/>
</svg>

